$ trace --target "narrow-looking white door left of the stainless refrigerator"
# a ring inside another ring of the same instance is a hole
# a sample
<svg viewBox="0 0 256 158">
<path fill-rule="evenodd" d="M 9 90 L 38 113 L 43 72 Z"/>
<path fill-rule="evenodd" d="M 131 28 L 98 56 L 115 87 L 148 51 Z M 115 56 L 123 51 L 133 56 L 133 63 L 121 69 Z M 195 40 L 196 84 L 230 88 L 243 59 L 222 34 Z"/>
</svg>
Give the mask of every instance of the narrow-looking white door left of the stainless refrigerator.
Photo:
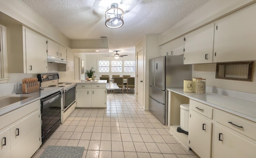
<svg viewBox="0 0 256 158">
<path fill-rule="evenodd" d="M 143 59 L 143 49 L 137 52 L 137 102 L 141 105 L 143 105 L 143 94 L 144 94 L 144 88 L 143 88 L 143 75 L 144 75 L 144 59 Z"/>
</svg>

